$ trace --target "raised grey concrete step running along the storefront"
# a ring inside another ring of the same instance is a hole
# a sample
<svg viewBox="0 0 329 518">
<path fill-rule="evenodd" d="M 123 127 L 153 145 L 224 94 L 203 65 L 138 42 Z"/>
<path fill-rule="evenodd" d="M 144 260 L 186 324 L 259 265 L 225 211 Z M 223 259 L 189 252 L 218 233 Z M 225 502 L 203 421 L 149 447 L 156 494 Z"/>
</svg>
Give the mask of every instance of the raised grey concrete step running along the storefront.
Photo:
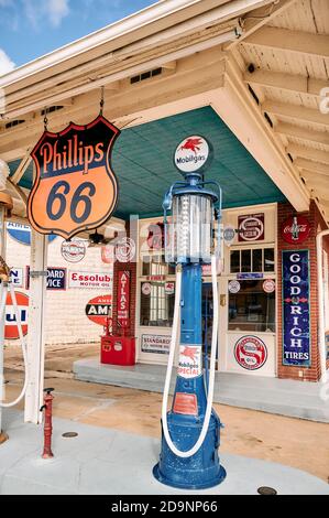
<svg viewBox="0 0 329 518">
<path fill-rule="evenodd" d="M 162 392 L 164 365 L 136 364 L 131 367 L 103 365 L 99 357 L 74 361 L 75 379 Z M 176 376 L 172 376 L 172 393 Z M 329 423 L 329 398 L 321 397 L 322 384 L 216 373 L 213 401 L 294 418 Z"/>
</svg>

